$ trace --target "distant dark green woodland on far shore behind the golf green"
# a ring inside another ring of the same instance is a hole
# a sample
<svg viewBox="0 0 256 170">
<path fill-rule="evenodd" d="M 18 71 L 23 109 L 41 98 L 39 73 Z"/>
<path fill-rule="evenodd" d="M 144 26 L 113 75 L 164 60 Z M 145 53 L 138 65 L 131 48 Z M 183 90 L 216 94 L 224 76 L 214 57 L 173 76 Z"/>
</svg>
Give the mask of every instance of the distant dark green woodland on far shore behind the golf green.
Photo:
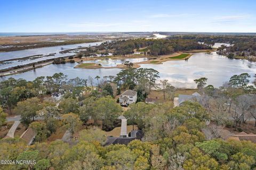
<svg viewBox="0 0 256 170">
<path fill-rule="evenodd" d="M 198 42 L 202 44 L 198 44 Z M 100 50 L 114 50 L 114 55 L 129 55 L 140 52 L 147 55 L 166 55 L 179 51 L 195 49 L 212 49 L 215 43 L 228 43 L 225 48 L 227 55 L 233 53 L 236 56 L 255 56 L 256 36 L 252 35 L 172 35 L 166 39 L 129 39 L 106 42 L 101 44 Z"/>
</svg>

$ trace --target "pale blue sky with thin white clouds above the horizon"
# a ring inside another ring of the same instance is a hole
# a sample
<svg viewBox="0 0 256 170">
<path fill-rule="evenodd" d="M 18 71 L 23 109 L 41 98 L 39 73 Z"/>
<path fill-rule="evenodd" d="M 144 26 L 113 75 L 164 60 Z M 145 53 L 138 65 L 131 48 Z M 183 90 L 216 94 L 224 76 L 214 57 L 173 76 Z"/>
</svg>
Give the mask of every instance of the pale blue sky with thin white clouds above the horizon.
<svg viewBox="0 0 256 170">
<path fill-rule="evenodd" d="M 256 32 L 256 1 L 0 0 L 0 32 Z"/>
</svg>

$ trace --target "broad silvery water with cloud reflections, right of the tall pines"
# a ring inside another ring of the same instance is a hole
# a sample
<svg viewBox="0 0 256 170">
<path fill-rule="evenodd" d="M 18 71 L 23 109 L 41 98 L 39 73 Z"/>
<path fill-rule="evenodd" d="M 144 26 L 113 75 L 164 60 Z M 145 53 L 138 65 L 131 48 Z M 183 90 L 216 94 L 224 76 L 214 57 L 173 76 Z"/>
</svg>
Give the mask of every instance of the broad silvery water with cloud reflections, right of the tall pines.
<svg viewBox="0 0 256 170">
<path fill-rule="evenodd" d="M 208 84 L 219 87 L 234 74 L 247 72 L 253 77 L 256 73 L 255 62 L 230 60 L 216 52 L 196 53 L 188 61 L 169 61 L 161 65 L 141 64 L 141 67 L 154 68 L 159 71 L 161 79 L 170 80 L 175 87 L 186 88 L 195 88 L 194 79 L 201 77 L 208 78 Z"/>
</svg>

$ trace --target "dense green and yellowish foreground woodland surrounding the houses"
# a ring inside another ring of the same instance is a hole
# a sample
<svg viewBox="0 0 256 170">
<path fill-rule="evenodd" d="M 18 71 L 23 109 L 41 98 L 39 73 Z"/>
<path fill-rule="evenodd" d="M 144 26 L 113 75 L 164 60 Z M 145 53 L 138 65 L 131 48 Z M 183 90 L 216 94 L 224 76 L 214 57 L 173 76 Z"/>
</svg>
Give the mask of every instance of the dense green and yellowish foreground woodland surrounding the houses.
<svg viewBox="0 0 256 170">
<path fill-rule="evenodd" d="M 31 146 L 19 138 L 0 140 L 0 159 L 36 160 L 36 164 L 1 165 L 0 169 L 254 169 L 256 144 L 224 141 L 219 136 L 219 129 L 225 126 L 241 131 L 240 125 L 249 118 L 256 120 L 256 79 L 252 86 L 249 78 L 247 73 L 234 75 L 219 89 L 207 85 L 207 78 L 196 79 L 202 94 L 198 103 L 187 101 L 173 108 L 171 100 L 156 105 L 138 102 L 127 111 L 113 98 L 118 91 L 130 88 L 146 97 L 152 87 L 157 87 L 167 99 L 172 98 L 174 89 L 168 81 L 157 83 L 158 72 L 153 69 L 128 69 L 116 77 L 87 80 L 68 80 L 62 73 L 34 81 L 10 78 L 0 83 L 1 105 L 9 114 L 21 114 L 22 124 L 34 129 L 36 138 Z M 45 98 L 60 90 L 66 93 L 58 106 Z M 103 132 L 118 126 L 121 114 L 144 132 L 142 141 L 103 147 Z M 4 125 L 6 114 L 2 109 L 0 115 Z M 43 115 L 40 123 L 33 121 L 38 115 Z M 93 124 L 87 124 L 89 117 Z M 212 124 L 206 126 L 205 121 Z M 98 128 L 101 122 L 102 128 Z M 74 134 L 81 125 L 87 129 L 79 132 L 77 145 L 46 143 L 58 128 Z"/>
</svg>

